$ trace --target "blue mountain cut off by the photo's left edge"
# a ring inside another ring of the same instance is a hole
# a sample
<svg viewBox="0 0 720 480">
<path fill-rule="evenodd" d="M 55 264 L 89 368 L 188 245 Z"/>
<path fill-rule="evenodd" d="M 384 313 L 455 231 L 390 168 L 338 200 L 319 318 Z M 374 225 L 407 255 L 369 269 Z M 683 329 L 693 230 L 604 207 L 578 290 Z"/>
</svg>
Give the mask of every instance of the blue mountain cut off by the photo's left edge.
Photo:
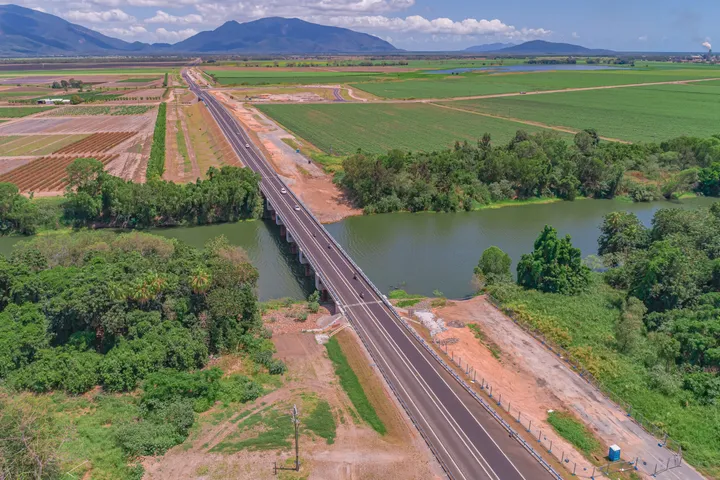
<svg viewBox="0 0 720 480">
<path fill-rule="evenodd" d="M 0 5 L 2 56 L 91 55 L 147 48 L 147 44 L 111 38 L 54 15 L 17 5 Z"/>
</svg>

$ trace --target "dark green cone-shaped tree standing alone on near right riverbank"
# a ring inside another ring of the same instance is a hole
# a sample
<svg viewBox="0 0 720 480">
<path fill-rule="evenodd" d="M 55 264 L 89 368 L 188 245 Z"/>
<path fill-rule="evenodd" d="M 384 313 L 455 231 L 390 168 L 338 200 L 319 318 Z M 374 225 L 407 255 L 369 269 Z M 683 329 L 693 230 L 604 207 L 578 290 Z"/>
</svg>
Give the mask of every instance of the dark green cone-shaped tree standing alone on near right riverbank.
<svg viewBox="0 0 720 480">
<path fill-rule="evenodd" d="M 590 269 L 583 265 L 580 249 L 572 246 L 570 235 L 559 239 L 549 225 L 535 240 L 535 250 L 522 256 L 517 273 L 519 285 L 543 292 L 574 295 L 590 283 Z"/>
</svg>

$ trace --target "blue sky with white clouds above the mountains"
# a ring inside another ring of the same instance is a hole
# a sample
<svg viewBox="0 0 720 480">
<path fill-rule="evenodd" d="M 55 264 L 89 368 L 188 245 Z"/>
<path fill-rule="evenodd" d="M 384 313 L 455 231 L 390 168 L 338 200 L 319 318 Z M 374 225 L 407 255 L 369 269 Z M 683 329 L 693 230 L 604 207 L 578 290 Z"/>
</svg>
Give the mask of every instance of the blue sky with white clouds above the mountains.
<svg viewBox="0 0 720 480">
<path fill-rule="evenodd" d="M 704 51 L 718 0 L 17 0 L 127 41 L 175 43 L 228 20 L 297 17 L 415 51 L 567 42 L 618 51 Z"/>
</svg>

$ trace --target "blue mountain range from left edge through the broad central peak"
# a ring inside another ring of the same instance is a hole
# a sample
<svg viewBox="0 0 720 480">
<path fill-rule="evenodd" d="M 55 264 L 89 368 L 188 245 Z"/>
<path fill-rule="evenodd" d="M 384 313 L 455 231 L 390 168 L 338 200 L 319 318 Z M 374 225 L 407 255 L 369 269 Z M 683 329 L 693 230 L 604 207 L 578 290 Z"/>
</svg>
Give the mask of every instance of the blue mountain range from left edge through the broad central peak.
<svg viewBox="0 0 720 480">
<path fill-rule="evenodd" d="M 373 35 L 297 18 L 229 21 L 174 45 L 125 42 L 60 17 L 0 5 L 0 56 L 154 53 L 383 53 L 398 51 Z"/>
</svg>

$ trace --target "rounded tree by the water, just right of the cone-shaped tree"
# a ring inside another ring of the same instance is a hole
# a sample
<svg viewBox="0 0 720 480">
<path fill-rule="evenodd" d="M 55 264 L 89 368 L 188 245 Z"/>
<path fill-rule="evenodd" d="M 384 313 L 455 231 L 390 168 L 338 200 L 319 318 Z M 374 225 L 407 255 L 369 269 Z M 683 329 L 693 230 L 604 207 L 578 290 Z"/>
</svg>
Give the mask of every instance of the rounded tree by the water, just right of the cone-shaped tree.
<svg viewBox="0 0 720 480">
<path fill-rule="evenodd" d="M 598 238 L 598 254 L 607 256 L 617 266 L 633 250 L 643 248 L 649 241 L 647 228 L 634 213 L 612 212 L 603 217 Z"/>
</svg>

